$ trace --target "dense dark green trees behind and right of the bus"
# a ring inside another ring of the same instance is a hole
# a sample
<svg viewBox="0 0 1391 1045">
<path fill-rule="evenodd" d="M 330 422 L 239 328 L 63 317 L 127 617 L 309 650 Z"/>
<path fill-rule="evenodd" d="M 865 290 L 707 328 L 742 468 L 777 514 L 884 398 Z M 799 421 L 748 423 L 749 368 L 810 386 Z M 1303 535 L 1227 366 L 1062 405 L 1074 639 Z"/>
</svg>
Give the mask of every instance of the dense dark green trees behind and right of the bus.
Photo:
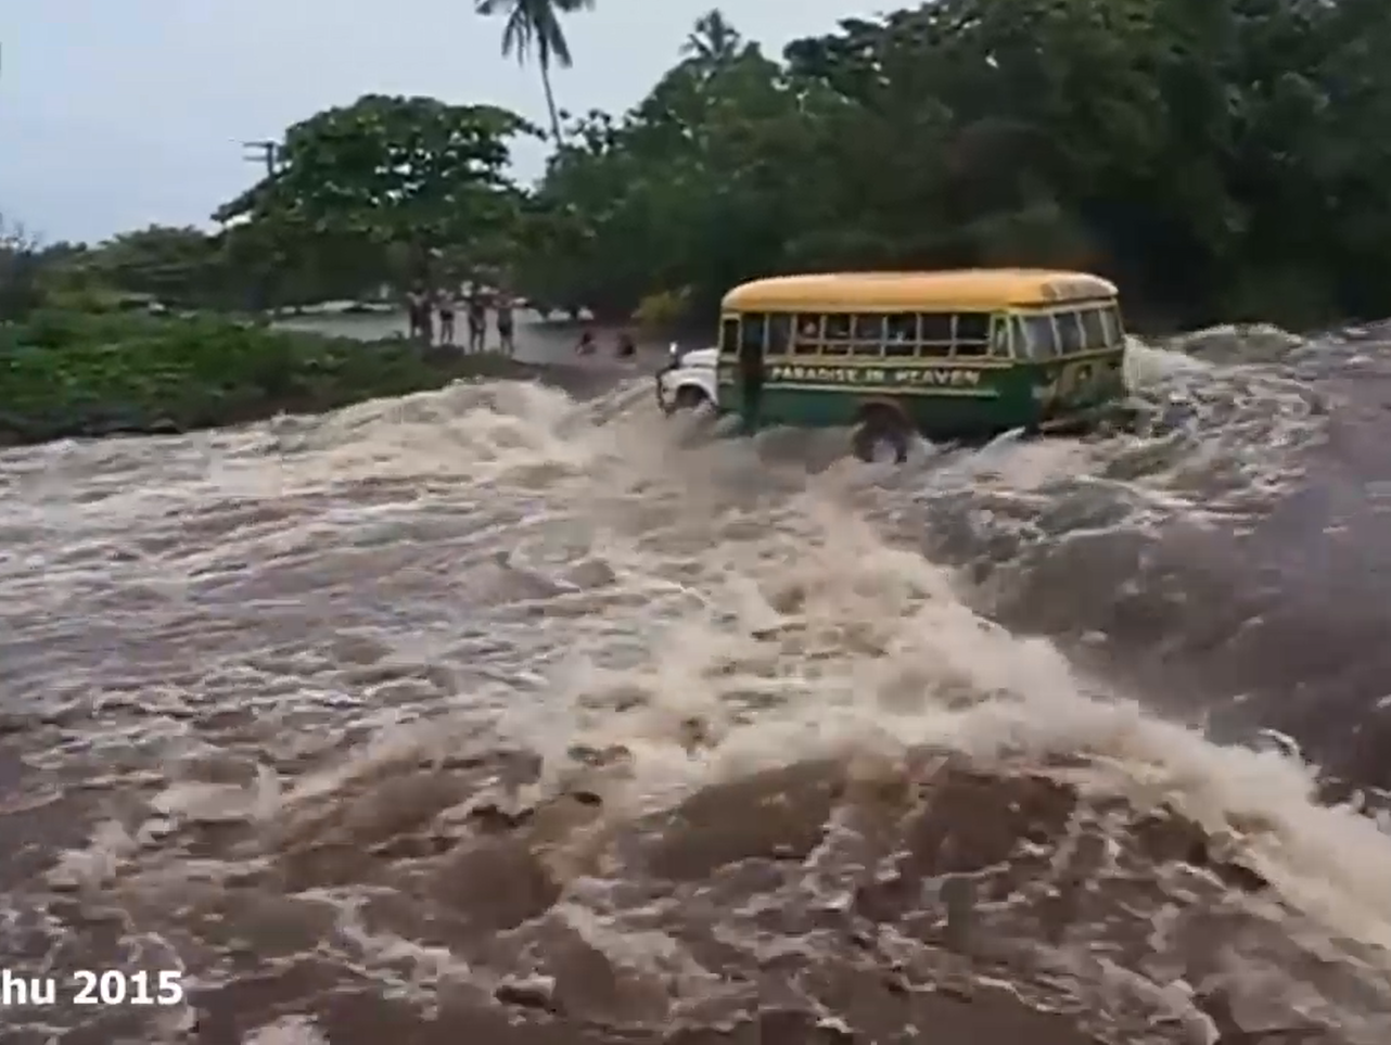
<svg viewBox="0 0 1391 1045">
<path fill-rule="evenodd" d="M 782 61 L 702 19 L 530 199 L 522 288 L 702 313 L 761 273 L 1060 263 L 1153 319 L 1391 309 L 1391 7 L 939 0 Z"/>
</svg>

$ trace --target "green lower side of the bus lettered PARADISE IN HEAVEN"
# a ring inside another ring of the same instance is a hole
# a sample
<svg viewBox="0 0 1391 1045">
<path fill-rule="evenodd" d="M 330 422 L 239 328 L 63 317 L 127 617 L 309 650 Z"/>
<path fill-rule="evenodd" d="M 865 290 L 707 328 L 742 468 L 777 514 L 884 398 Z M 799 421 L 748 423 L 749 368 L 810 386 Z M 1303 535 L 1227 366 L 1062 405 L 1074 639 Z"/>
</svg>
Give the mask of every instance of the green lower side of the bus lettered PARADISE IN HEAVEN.
<svg viewBox="0 0 1391 1045">
<path fill-rule="evenodd" d="M 755 427 L 836 427 L 857 423 L 871 404 L 892 404 L 931 440 L 989 438 L 1082 415 L 1125 395 L 1124 348 L 1046 362 L 982 363 L 775 358 Z M 719 409 L 744 413 L 733 356 L 719 358 Z"/>
</svg>

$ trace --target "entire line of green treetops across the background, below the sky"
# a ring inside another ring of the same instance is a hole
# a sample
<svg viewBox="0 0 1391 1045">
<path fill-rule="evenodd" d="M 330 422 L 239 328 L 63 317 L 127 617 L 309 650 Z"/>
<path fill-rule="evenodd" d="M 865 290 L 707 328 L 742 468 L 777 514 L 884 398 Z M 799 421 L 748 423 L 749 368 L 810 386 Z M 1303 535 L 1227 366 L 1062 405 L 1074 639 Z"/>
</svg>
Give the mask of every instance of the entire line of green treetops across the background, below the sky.
<svg viewBox="0 0 1391 1045">
<path fill-rule="evenodd" d="M 1388 53 L 1381 0 L 936 0 L 780 56 L 711 11 L 632 110 L 558 114 L 534 185 L 516 114 L 367 95 L 291 127 L 202 248 L 99 253 L 218 301 L 483 273 L 704 321 L 759 274 L 1036 263 L 1117 278 L 1152 321 L 1385 314 Z"/>
</svg>

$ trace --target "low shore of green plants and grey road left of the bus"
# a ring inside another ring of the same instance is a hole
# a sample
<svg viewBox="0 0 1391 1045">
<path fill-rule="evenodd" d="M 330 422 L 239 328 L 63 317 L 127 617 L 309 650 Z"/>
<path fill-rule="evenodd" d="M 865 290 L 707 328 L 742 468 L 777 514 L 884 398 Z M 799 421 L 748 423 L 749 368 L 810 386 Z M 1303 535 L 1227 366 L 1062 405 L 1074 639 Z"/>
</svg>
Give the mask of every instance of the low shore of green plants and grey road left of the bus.
<svg viewBox="0 0 1391 1045">
<path fill-rule="evenodd" d="M 652 352 L 576 356 L 569 326 L 524 323 L 516 352 L 426 346 L 394 313 L 248 324 L 207 314 L 50 312 L 4 328 L 0 445 L 171 436 L 277 415 L 323 415 L 455 381 L 531 381 L 577 399 L 651 373 Z"/>
</svg>

